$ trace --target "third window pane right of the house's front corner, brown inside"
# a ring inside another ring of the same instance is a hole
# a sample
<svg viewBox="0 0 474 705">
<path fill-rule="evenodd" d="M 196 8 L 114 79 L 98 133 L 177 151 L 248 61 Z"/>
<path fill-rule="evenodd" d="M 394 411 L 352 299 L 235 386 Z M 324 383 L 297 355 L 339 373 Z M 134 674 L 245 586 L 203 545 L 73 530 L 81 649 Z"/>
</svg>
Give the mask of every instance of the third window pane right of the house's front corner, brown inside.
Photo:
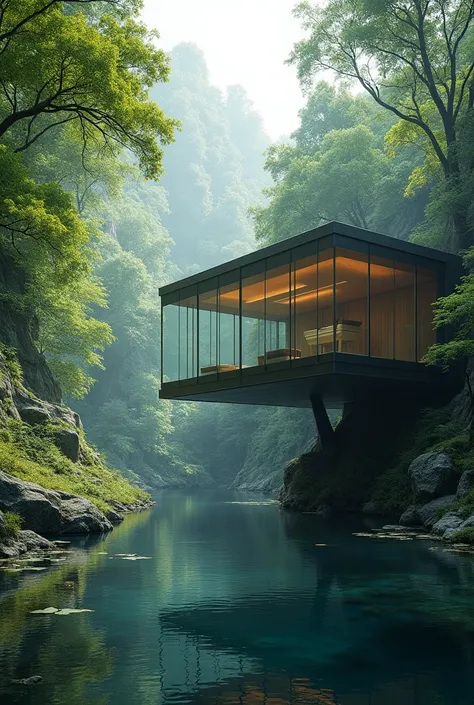
<svg viewBox="0 0 474 705">
<path fill-rule="evenodd" d="M 415 268 L 394 263 L 395 359 L 415 361 Z"/>
</svg>

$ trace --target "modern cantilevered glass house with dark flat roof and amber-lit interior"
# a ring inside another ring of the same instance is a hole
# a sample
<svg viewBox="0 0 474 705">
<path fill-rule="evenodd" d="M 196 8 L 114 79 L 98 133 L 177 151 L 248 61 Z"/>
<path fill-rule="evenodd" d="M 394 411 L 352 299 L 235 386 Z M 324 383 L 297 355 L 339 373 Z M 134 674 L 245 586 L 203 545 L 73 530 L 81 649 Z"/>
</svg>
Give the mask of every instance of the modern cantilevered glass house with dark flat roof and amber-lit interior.
<svg viewBox="0 0 474 705">
<path fill-rule="evenodd" d="M 164 286 L 161 397 L 340 406 L 446 389 L 421 359 L 460 273 L 457 256 L 327 223 Z"/>
</svg>

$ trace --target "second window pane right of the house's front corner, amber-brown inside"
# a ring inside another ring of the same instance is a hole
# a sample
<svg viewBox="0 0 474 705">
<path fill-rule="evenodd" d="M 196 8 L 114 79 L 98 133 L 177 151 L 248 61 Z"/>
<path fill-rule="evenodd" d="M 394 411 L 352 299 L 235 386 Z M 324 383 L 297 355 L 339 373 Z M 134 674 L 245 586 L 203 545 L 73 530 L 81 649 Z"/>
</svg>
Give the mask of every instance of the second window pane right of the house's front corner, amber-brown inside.
<svg viewBox="0 0 474 705">
<path fill-rule="evenodd" d="M 370 354 L 393 359 L 395 275 L 393 260 L 370 257 Z"/>
</svg>

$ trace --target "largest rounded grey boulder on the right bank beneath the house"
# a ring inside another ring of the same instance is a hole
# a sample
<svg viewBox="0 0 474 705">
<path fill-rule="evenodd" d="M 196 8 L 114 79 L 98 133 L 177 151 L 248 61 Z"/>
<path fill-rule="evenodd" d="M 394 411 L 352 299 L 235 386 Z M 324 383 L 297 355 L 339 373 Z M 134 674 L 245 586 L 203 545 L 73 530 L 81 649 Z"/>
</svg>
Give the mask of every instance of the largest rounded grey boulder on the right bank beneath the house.
<svg viewBox="0 0 474 705">
<path fill-rule="evenodd" d="M 408 468 L 416 502 L 429 502 L 456 488 L 456 472 L 446 453 L 424 453 Z"/>
</svg>

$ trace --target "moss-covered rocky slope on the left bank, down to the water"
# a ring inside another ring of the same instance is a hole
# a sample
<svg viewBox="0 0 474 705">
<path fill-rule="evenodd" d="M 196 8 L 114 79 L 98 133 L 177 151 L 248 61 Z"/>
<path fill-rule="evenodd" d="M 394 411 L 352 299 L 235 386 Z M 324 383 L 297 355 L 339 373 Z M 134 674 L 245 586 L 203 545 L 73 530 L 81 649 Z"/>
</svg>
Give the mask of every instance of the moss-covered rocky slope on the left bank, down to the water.
<svg viewBox="0 0 474 705">
<path fill-rule="evenodd" d="M 78 414 L 61 402 L 60 389 L 34 343 L 36 320 L 15 308 L 22 282 L 14 271 L 2 260 L 0 511 L 20 517 L 24 531 L 16 542 L 7 537 L 7 555 L 39 545 L 32 531 L 108 531 L 125 512 L 150 505 L 145 492 L 107 467 L 86 442 Z M 3 547 L 5 541 L 0 536 Z"/>
</svg>

